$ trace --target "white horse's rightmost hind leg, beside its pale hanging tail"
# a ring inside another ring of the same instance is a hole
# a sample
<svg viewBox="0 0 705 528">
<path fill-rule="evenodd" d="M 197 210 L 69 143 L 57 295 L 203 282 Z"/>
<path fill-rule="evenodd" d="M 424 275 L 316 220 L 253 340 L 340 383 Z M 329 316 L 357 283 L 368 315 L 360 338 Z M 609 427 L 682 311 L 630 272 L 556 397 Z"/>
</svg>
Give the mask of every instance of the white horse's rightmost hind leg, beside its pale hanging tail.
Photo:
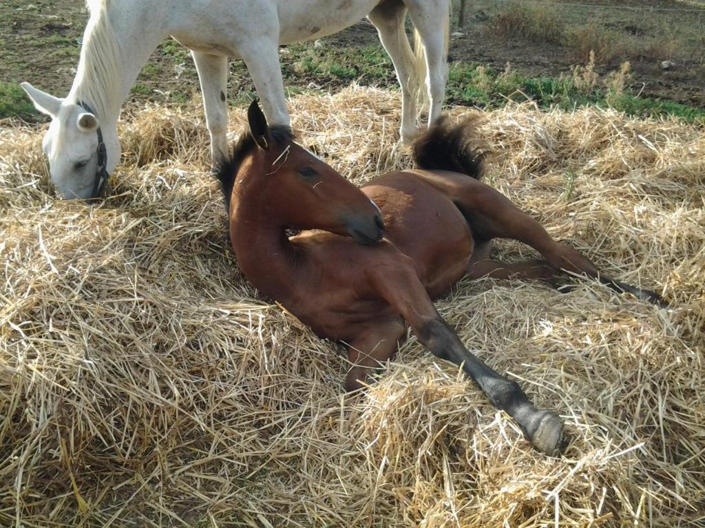
<svg viewBox="0 0 705 528">
<path fill-rule="evenodd" d="M 426 54 L 429 126 L 441 115 L 448 81 L 448 0 L 405 0 Z"/>
</svg>

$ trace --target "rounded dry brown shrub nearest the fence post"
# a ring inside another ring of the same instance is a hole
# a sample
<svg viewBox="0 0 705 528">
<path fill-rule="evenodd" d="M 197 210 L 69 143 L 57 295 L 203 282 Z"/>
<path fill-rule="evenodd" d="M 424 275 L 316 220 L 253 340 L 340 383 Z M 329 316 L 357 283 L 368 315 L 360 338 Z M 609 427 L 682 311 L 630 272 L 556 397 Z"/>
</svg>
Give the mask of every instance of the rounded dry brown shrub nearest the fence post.
<svg viewBox="0 0 705 528">
<path fill-rule="evenodd" d="M 514 2 L 488 21 L 488 27 L 505 41 L 518 39 L 527 42 L 558 44 L 563 39 L 565 23 L 556 10 L 537 4 Z"/>
</svg>

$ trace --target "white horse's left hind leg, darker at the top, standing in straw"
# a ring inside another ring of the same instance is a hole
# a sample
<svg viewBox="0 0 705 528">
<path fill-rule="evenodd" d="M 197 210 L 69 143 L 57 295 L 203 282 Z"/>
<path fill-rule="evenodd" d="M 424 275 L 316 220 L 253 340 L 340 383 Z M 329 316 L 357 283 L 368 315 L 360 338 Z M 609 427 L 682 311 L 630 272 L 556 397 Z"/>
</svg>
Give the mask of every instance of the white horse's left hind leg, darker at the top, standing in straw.
<svg viewBox="0 0 705 528">
<path fill-rule="evenodd" d="M 401 87 L 401 141 L 410 144 L 416 136 L 416 90 L 418 84 L 414 68 L 414 54 L 406 35 L 404 21 L 406 6 L 385 2 L 374 8 L 367 18 L 377 28 L 379 39 L 394 64 Z"/>
</svg>

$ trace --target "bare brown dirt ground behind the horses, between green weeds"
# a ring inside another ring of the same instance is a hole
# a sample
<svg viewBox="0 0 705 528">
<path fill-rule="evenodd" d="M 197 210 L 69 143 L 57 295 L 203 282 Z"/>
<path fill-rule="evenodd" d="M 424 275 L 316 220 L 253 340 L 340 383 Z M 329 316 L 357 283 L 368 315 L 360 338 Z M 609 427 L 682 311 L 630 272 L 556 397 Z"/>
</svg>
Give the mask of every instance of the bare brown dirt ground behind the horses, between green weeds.
<svg viewBox="0 0 705 528">
<path fill-rule="evenodd" d="M 653 11 L 695 8 L 701 4 L 675 0 L 625 0 L 616 3 L 591 0 L 589 4 L 603 4 L 603 7 L 580 8 L 575 7 L 577 4 L 570 4 L 562 7 L 561 17 L 577 24 L 597 21 L 603 27 L 623 32 L 628 37 L 644 38 L 645 42 L 664 32 L 670 32 L 674 38 L 694 35 L 689 39 L 684 37 L 685 44 L 679 46 L 679 56 L 664 54 L 663 60 L 676 63 L 671 71 L 662 72 L 660 60 L 632 58 L 632 70 L 635 72 L 632 89 L 654 99 L 705 106 L 705 37 L 700 36 L 700 41 L 697 40 L 698 34 L 705 34 L 705 10 L 702 13 Z M 622 8 L 616 8 L 617 4 Z M 450 61 L 488 65 L 499 70 L 510 63 L 514 70 L 532 76 L 568 73 L 575 60 L 565 46 L 533 44 L 515 39 L 504 41 L 488 29 L 488 20 L 506 5 L 506 1 L 497 0 L 469 1 L 465 29 L 462 35 L 456 35 L 450 42 Z M 26 80 L 57 96 L 66 94 L 75 75 L 87 20 L 83 1 L 37 0 L 27 4 L 21 0 L 6 0 L 0 5 L 0 20 L 0 56 L 3 57 L 0 81 L 15 83 Z M 457 30 L 456 10 L 451 31 Z M 378 41 L 374 27 L 363 20 L 348 30 L 326 37 L 324 42 L 330 46 L 364 46 Z M 283 63 L 291 60 L 295 58 L 282 57 Z M 601 70 L 614 69 L 619 62 L 602 65 Z M 238 67 L 233 62 L 231 70 L 234 75 L 229 80 L 230 95 L 252 91 L 252 83 L 243 73 L 242 66 Z M 288 86 L 300 82 L 295 75 L 286 71 L 285 77 Z M 360 82 L 366 84 L 364 79 Z M 387 82 L 394 82 L 393 76 L 369 80 L 369 84 Z M 131 101 L 188 101 L 198 86 L 188 53 L 174 42 L 164 42 L 159 46 L 137 84 L 130 95 Z M 317 84 L 326 91 L 337 91 L 341 84 L 348 82 L 331 79 Z M 307 83 L 299 86 L 307 87 Z"/>
</svg>

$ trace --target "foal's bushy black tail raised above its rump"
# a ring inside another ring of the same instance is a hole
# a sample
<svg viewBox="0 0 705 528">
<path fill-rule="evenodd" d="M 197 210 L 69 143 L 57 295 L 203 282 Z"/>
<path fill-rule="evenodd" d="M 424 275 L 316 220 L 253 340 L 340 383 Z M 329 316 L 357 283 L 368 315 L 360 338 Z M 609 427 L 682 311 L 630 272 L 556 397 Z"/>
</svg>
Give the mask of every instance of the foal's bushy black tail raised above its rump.
<svg viewBox="0 0 705 528">
<path fill-rule="evenodd" d="M 477 118 L 450 122 L 442 115 L 412 146 L 414 163 L 419 169 L 462 172 L 479 180 L 485 149 L 477 139 Z"/>
</svg>

